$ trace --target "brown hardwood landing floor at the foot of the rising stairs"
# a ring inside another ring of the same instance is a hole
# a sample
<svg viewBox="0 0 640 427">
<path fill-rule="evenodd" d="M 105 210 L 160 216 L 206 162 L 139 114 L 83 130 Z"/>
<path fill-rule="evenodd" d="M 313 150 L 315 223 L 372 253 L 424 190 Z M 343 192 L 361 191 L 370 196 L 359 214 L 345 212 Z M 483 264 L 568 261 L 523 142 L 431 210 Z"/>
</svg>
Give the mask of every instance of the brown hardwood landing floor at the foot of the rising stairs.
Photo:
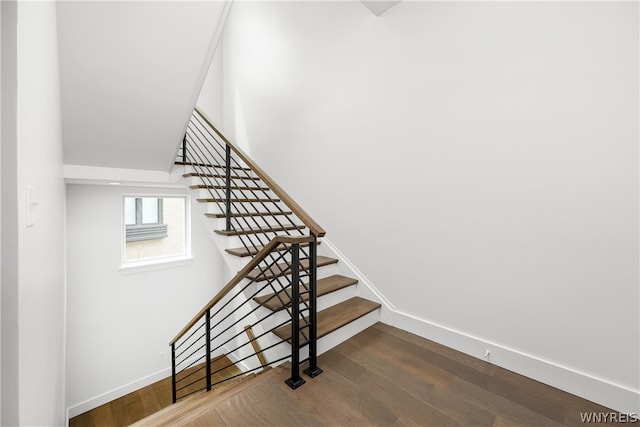
<svg viewBox="0 0 640 427">
<path fill-rule="evenodd" d="M 289 372 L 281 366 L 136 425 L 578 426 L 581 412 L 612 412 L 381 323 L 323 354 L 319 365 L 324 373 L 297 390 L 284 384 Z M 125 425 L 134 418 L 126 411 L 143 409 L 120 403 L 109 409 L 109 423 L 71 425 Z"/>
</svg>

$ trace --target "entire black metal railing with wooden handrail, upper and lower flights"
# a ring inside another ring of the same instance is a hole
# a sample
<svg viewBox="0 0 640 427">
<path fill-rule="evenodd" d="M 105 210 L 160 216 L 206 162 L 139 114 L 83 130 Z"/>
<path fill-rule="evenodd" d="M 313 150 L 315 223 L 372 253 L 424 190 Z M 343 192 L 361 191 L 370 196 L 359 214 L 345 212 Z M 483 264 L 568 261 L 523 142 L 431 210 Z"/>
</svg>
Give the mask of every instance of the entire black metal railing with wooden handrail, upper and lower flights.
<svg viewBox="0 0 640 427">
<path fill-rule="evenodd" d="M 193 188 L 207 195 L 199 201 L 216 207 L 210 215 L 224 219 L 218 232 L 237 236 L 241 247 L 236 251 L 253 258 L 170 343 L 173 401 L 289 358 L 286 382 L 299 387 L 304 384 L 301 364 L 309 363 L 305 373 L 311 377 L 322 372 L 317 366 L 316 269 L 317 238 L 324 230 L 198 109 L 177 163 L 199 178 Z M 254 301 L 268 292 L 280 310 L 266 313 Z M 289 323 L 290 335 L 276 339 L 271 332 Z M 261 332 L 245 334 L 247 328 Z M 308 356 L 301 360 L 304 346 Z M 219 355 L 233 361 L 214 363 L 223 360 L 216 359 Z M 225 374 L 233 365 L 242 365 L 243 372 Z"/>
</svg>

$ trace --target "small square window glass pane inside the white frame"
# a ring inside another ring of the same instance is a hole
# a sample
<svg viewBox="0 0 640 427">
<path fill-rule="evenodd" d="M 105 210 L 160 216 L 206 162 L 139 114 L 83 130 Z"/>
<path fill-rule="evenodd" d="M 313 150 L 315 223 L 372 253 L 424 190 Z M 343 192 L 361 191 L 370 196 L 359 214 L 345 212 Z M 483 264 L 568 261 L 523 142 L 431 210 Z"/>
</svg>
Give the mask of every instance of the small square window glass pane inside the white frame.
<svg viewBox="0 0 640 427">
<path fill-rule="evenodd" d="M 188 199 L 123 197 L 123 264 L 189 256 Z"/>
</svg>

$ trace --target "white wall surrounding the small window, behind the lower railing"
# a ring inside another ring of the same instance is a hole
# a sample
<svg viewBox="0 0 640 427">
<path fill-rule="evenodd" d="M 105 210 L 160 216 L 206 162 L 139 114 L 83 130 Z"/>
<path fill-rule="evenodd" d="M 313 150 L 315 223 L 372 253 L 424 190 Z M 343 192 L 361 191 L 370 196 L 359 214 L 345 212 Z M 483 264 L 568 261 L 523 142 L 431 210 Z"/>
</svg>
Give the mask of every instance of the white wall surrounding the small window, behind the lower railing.
<svg viewBox="0 0 640 427">
<path fill-rule="evenodd" d="M 197 207 L 191 209 L 190 264 L 120 271 L 123 193 L 185 190 L 67 185 L 71 417 L 171 375 L 169 341 L 224 285 L 227 274 Z"/>
</svg>

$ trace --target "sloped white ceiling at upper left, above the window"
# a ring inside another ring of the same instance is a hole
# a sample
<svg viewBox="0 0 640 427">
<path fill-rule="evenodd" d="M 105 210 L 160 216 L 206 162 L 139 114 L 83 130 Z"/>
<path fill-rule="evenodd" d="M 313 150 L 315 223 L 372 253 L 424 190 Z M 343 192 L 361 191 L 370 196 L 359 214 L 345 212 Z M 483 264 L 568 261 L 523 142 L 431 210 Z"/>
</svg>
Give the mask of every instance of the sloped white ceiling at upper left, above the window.
<svg viewBox="0 0 640 427">
<path fill-rule="evenodd" d="M 60 1 L 64 162 L 168 171 L 225 1 Z"/>
</svg>

